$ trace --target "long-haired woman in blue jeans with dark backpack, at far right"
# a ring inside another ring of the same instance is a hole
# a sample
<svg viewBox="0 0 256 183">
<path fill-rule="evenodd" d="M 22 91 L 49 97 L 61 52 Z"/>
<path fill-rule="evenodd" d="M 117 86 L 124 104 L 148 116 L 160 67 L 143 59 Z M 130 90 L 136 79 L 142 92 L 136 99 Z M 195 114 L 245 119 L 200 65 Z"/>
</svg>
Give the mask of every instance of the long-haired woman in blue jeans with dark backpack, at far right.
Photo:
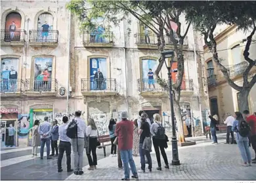
<svg viewBox="0 0 256 183">
<path fill-rule="evenodd" d="M 249 131 L 247 135 L 240 134 L 240 127 L 247 125 L 242 113 L 235 112 L 234 118 L 236 119 L 232 125 L 232 131 L 236 132 L 236 142 L 244 161 L 243 166 L 251 166 L 251 152 L 249 150 Z"/>
</svg>

